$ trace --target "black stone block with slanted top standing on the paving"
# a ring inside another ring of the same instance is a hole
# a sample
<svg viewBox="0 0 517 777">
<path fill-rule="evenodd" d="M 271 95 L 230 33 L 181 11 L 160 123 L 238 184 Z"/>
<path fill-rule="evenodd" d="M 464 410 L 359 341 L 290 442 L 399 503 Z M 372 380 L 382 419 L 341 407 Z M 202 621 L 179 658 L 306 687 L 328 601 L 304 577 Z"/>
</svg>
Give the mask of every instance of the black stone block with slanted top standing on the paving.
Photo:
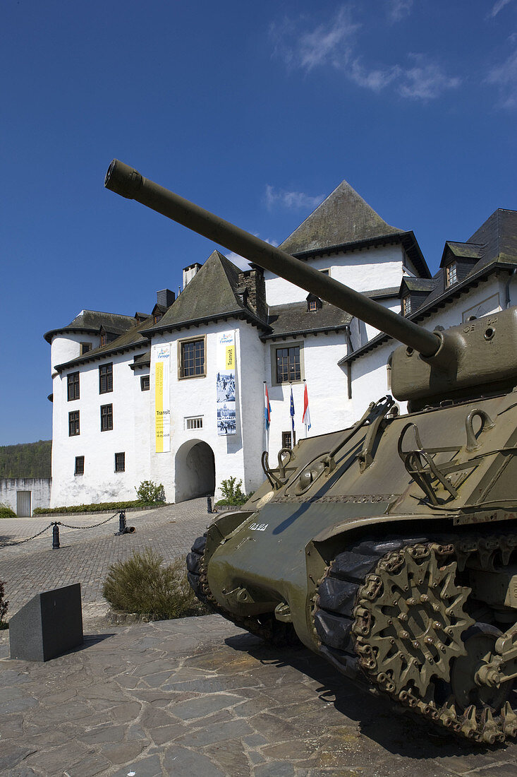
<svg viewBox="0 0 517 777">
<path fill-rule="evenodd" d="M 9 621 L 11 658 L 48 661 L 83 642 L 80 583 L 36 594 Z"/>
</svg>

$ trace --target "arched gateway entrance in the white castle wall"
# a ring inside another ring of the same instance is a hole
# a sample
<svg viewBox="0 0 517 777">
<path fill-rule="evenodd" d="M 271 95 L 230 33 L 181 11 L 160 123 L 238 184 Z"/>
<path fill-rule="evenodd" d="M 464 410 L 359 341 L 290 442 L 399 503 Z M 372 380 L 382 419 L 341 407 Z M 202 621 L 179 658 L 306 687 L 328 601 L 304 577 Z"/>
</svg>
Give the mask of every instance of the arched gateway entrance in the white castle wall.
<svg viewBox="0 0 517 777">
<path fill-rule="evenodd" d="M 189 440 L 175 457 L 175 501 L 205 497 L 215 491 L 215 458 L 203 440 Z"/>
</svg>

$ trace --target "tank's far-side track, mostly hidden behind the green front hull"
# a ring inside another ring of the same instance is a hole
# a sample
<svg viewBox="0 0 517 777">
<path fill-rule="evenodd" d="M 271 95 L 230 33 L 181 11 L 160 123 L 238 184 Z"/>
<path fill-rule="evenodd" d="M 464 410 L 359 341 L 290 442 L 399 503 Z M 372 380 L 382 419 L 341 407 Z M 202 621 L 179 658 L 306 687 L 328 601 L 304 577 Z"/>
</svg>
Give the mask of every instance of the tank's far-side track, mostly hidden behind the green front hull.
<svg viewBox="0 0 517 777">
<path fill-rule="evenodd" d="M 255 636 L 265 639 L 276 647 L 298 647 L 300 640 L 290 623 L 283 623 L 276 620 L 272 614 L 258 615 L 257 617 L 239 618 L 231 612 L 220 606 L 217 599 L 213 596 L 208 585 L 206 577 L 206 566 L 204 563 L 204 552 L 206 546 L 206 534 L 198 537 L 194 542 L 191 551 L 186 557 L 187 577 L 189 584 L 193 588 L 196 597 L 203 602 L 211 611 L 222 615 L 241 629 L 245 629 Z"/>
</svg>

